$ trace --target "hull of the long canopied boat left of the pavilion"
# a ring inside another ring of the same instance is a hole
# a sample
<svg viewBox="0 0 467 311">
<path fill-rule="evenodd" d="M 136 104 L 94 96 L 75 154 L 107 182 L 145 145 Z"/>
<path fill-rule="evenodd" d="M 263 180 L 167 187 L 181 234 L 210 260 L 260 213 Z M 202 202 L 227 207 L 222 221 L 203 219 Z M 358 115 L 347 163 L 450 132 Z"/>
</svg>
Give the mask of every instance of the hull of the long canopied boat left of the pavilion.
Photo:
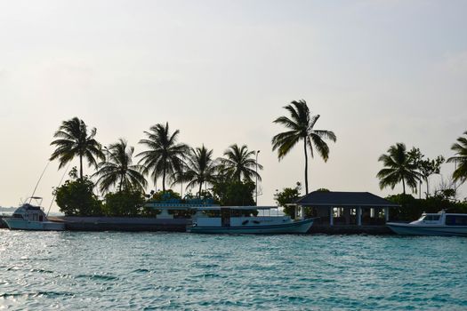
<svg viewBox="0 0 467 311">
<path fill-rule="evenodd" d="M 314 219 L 305 219 L 286 224 L 270 226 L 238 226 L 238 227 L 187 227 L 189 233 L 227 234 L 227 235 L 274 235 L 274 234 L 305 234 L 313 225 Z"/>
</svg>

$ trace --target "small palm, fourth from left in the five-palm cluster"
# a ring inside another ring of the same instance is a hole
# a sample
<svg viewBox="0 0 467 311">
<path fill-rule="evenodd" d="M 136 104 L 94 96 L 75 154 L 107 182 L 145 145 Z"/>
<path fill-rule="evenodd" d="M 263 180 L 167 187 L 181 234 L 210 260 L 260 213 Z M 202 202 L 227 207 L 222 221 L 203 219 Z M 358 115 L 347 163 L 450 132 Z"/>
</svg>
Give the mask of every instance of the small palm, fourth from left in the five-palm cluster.
<svg viewBox="0 0 467 311">
<path fill-rule="evenodd" d="M 199 185 L 198 196 L 205 182 L 213 183 L 217 177 L 217 165 L 213 159 L 213 150 L 207 150 L 205 145 L 201 148 L 191 148 L 184 171 L 180 173 L 177 181 L 188 182 L 187 188 Z"/>
</svg>

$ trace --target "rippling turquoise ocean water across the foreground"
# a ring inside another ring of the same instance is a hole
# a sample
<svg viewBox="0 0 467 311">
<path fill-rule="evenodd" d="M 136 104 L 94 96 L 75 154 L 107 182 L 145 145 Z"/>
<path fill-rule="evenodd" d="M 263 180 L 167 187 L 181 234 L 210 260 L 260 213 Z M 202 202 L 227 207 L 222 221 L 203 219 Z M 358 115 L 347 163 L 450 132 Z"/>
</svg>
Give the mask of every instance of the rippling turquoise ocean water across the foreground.
<svg viewBox="0 0 467 311">
<path fill-rule="evenodd" d="M 467 310 L 467 238 L 2 229 L 0 309 Z"/>
</svg>

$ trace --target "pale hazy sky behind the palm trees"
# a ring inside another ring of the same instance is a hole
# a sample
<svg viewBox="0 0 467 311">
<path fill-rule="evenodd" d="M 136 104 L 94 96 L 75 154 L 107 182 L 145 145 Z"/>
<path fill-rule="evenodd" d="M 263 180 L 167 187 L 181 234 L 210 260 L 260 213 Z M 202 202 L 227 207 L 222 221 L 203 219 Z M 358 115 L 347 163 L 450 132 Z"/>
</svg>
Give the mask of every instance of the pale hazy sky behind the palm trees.
<svg viewBox="0 0 467 311">
<path fill-rule="evenodd" d="M 310 190 L 400 193 L 379 188 L 379 156 L 397 142 L 453 156 L 467 130 L 465 12 L 455 0 L 0 0 L 0 206 L 32 194 L 53 132 L 74 116 L 135 153 L 165 122 L 214 156 L 261 150 L 258 203 L 273 204 L 304 180 L 302 148 L 279 162 L 270 144 L 292 100 L 337 136 L 326 163 L 310 161 Z M 431 189 L 453 170 L 444 164 Z M 56 161 L 44 172 L 44 206 L 62 175 Z"/>
</svg>

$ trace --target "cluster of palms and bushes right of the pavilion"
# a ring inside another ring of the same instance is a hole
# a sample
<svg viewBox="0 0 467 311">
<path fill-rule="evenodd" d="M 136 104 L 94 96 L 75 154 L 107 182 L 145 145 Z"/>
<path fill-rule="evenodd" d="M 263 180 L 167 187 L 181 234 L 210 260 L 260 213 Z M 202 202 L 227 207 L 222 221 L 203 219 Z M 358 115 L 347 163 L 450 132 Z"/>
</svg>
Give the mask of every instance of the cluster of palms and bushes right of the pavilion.
<svg viewBox="0 0 467 311">
<path fill-rule="evenodd" d="M 467 135 L 467 131 L 463 135 Z M 441 181 L 439 187 L 433 191 L 430 188 L 430 177 L 439 174 L 441 165 L 445 163 L 444 156 L 430 159 L 419 148 L 407 151 L 405 144 L 397 143 L 388 149 L 387 154 L 379 157 L 378 161 L 384 166 L 376 175 L 380 179 L 380 187 L 393 189 L 402 183 L 402 194 L 387 197 L 389 201 L 401 205 L 392 212 L 391 218 L 413 220 L 420 217 L 423 211 L 467 213 L 467 199 L 458 200 L 456 195 L 457 188 L 467 180 L 467 136 L 459 137 L 451 150 L 455 152 L 455 156 L 449 157 L 447 163 L 455 163 L 455 171 L 450 180 Z M 424 199 L 421 196 L 423 182 L 426 185 Z M 407 195 L 407 187 L 415 194 L 418 192 L 419 198 Z"/>
</svg>

